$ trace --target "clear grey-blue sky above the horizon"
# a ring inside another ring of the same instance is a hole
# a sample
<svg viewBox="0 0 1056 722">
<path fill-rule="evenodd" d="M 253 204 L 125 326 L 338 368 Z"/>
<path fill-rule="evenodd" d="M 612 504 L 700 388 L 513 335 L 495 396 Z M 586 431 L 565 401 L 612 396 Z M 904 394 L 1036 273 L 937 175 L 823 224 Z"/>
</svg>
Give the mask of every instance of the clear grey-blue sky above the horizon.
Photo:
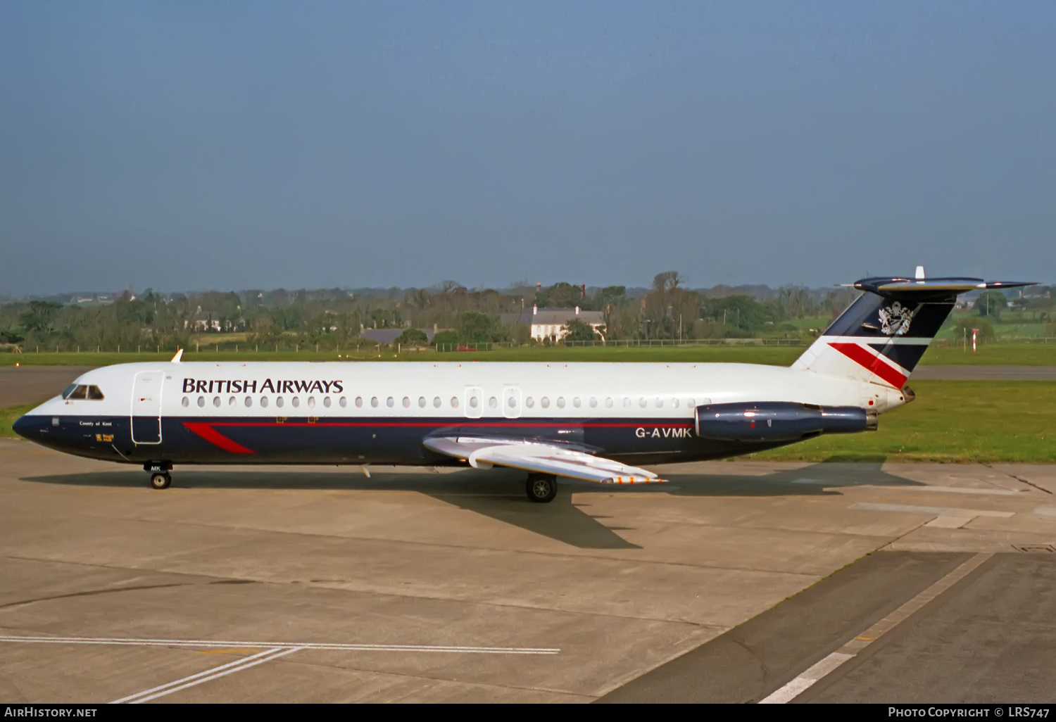
<svg viewBox="0 0 1056 722">
<path fill-rule="evenodd" d="M 0 3 L 0 294 L 1056 280 L 1051 2 Z"/>
</svg>

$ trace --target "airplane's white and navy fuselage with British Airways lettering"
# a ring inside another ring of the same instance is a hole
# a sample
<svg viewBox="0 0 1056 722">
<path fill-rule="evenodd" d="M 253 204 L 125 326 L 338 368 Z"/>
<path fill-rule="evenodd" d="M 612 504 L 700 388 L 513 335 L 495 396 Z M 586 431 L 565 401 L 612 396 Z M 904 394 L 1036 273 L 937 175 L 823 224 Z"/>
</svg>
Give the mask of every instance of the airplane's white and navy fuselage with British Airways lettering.
<svg viewBox="0 0 1056 722">
<path fill-rule="evenodd" d="M 706 404 L 904 402 L 889 386 L 727 363 L 136 363 L 84 374 L 101 399 L 54 398 L 22 436 L 67 453 L 147 463 L 447 466 L 430 438 L 558 442 L 634 463 L 714 459 L 789 441 L 694 433 Z"/>
</svg>

